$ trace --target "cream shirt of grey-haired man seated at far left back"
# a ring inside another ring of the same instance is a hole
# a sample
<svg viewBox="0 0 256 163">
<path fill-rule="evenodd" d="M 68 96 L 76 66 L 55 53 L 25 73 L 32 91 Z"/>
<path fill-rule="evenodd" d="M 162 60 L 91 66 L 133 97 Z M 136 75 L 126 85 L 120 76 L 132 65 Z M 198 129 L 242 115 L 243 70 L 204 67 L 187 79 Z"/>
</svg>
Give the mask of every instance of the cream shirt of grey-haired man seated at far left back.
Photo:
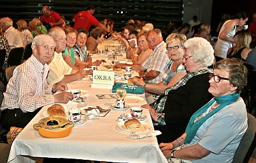
<svg viewBox="0 0 256 163">
<path fill-rule="evenodd" d="M 5 32 L 4 37 L 7 38 L 10 49 L 15 47 L 22 47 L 22 38 L 20 32 L 13 26 L 10 26 Z"/>
</svg>

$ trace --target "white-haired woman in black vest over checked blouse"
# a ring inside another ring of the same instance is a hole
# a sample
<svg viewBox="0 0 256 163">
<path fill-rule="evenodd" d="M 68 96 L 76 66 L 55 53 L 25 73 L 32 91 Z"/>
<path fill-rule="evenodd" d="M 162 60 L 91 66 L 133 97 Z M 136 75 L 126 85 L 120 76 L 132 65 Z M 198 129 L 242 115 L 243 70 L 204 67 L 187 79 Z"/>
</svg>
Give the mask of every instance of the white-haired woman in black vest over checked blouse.
<svg viewBox="0 0 256 163">
<path fill-rule="evenodd" d="M 183 63 L 188 72 L 179 82 L 166 88 L 154 103 L 142 105 L 150 111 L 155 129 L 162 134 L 158 143 L 170 142 L 184 133 L 189 118 L 211 99 L 208 93 L 209 72 L 214 50 L 204 38 L 191 38 L 184 43 Z"/>
</svg>

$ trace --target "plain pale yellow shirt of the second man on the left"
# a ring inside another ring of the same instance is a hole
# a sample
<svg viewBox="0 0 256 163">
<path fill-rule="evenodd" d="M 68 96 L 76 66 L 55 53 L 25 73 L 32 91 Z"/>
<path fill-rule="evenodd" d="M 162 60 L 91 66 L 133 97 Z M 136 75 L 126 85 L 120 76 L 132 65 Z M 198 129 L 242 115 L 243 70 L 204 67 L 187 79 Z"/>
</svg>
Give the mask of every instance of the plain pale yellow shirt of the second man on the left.
<svg viewBox="0 0 256 163">
<path fill-rule="evenodd" d="M 47 77 L 48 84 L 56 84 L 61 81 L 64 75 L 70 75 L 72 68 L 64 61 L 62 52 L 54 52 L 54 58 L 49 63 L 49 74 Z"/>
</svg>

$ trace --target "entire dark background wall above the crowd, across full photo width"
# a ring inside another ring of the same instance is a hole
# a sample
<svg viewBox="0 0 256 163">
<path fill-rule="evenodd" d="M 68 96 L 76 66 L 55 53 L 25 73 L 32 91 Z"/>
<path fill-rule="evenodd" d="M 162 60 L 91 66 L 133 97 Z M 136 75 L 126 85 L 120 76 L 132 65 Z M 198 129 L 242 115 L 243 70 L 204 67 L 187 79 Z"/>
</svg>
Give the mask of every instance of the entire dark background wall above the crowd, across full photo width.
<svg viewBox="0 0 256 163">
<path fill-rule="evenodd" d="M 170 20 L 177 24 L 188 22 L 193 14 L 198 13 L 201 22 L 211 24 L 213 35 L 223 13 L 234 15 L 246 11 L 251 14 L 256 10 L 256 0 L 1 0 L 0 17 L 11 17 L 13 22 L 19 19 L 29 21 L 42 15 L 45 4 L 68 20 L 85 10 L 88 4 L 93 4 L 97 6 L 95 17 L 98 20 L 104 17 L 113 19 L 116 30 L 120 30 L 129 19 L 146 20 L 161 28 Z"/>
</svg>

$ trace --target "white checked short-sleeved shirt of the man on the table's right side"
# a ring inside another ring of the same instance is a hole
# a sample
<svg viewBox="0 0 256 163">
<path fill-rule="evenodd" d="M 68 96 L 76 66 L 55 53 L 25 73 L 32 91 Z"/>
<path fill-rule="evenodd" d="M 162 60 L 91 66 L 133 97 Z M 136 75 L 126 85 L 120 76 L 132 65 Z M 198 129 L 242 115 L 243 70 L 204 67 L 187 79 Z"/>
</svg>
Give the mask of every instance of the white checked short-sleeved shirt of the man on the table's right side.
<svg viewBox="0 0 256 163">
<path fill-rule="evenodd" d="M 147 81 L 147 83 L 157 84 L 163 81 L 163 74 L 166 70 L 166 65 L 168 62 L 169 59 L 167 56 L 166 43 L 161 42 L 153 50 L 152 54 L 150 55 L 150 58 L 146 59 L 142 63 L 142 66 L 144 68 L 147 68 L 147 73 L 150 72 L 150 70 L 156 70 L 157 72 L 159 72 L 159 75 L 155 79 Z"/>
</svg>

